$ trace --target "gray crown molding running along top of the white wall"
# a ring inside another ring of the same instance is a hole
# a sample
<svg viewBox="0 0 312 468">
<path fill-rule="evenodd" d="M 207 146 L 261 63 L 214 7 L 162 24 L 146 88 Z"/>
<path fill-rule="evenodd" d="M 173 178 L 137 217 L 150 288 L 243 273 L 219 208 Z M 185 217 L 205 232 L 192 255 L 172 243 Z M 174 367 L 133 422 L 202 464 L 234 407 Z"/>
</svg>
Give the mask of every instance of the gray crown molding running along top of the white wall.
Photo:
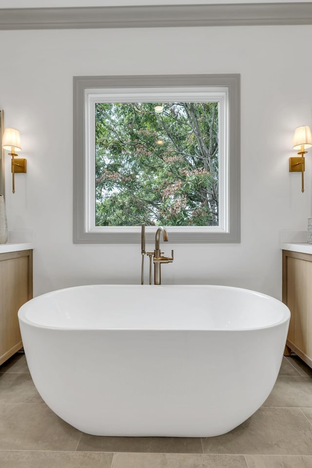
<svg viewBox="0 0 312 468">
<path fill-rule="evenodd" d="M 312 24 L 312 2 L 0 9 L 0 30 L 287 24 Z"/>
</svg>

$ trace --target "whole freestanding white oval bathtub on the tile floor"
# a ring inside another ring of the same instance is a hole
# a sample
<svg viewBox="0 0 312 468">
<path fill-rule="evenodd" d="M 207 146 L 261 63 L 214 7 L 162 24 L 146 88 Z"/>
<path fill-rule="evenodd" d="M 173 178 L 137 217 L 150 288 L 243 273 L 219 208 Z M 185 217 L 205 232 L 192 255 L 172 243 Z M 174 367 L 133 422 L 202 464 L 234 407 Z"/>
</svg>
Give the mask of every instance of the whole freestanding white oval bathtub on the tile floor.
<svg viewBox="0 0 312 468">
<path fill-rule="evenodd" d="M 268 397 L 290 319 L 223 286 L 81 286 L 24 304 L 20 330 L 47 405 L 94 435 L 209 437 Z"/>
</svg>

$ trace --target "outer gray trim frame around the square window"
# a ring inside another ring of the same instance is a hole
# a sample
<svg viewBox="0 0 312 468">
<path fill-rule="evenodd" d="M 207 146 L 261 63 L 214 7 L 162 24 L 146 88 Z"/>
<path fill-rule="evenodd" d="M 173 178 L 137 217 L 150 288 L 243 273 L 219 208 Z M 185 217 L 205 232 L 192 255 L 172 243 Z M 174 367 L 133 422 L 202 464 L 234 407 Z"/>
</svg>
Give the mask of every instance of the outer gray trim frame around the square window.
<svg viewBox="0 0 312 468">
<path fill-rule="evenodd" d="M 170 233 L 171 243 L 240 242 L 240 75 L 153 75 L 74 77 L 73 242 L 75 244 L 137 243 L 138 233 L 85 232 L 85 89 L 156 87 L 228 87 L 229 90 L 229 232 Z M 153 242 L 155 234 L 146 235 Z"/>
</svg>

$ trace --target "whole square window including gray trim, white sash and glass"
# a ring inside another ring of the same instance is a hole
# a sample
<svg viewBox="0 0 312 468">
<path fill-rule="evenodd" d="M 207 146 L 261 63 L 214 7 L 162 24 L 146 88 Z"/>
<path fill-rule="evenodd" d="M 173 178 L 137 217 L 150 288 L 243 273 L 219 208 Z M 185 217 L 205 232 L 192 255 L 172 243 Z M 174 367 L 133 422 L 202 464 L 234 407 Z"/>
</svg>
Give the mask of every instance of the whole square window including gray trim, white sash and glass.
<svg viewBox="0 0 312 468">
<path fill-rule="evenodd" d="M 239 75 L 74 77 L 75 243 L 239 242 L 239 203 Z"/>
</svg>

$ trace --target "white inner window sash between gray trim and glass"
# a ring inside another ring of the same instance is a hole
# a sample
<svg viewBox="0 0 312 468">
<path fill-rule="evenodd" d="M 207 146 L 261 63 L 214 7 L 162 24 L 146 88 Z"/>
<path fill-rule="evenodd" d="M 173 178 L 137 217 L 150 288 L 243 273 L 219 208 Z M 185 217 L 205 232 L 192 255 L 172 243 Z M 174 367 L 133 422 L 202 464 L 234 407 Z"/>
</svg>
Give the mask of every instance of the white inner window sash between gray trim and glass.
<svg viewBox="0 0 312 468">
<path fill-rule="evenodd" d="M 168 226 L 170 233 L 229 232 L 229 93 L 227 87 L 85 89 L 85 233 L 137 233 L 137 226 L 96 226 L 95 106 L 101 102 L 218 102 L 219 225 Z M 155 228 L 146 227 L 146 232 Z"/>
</svg>

